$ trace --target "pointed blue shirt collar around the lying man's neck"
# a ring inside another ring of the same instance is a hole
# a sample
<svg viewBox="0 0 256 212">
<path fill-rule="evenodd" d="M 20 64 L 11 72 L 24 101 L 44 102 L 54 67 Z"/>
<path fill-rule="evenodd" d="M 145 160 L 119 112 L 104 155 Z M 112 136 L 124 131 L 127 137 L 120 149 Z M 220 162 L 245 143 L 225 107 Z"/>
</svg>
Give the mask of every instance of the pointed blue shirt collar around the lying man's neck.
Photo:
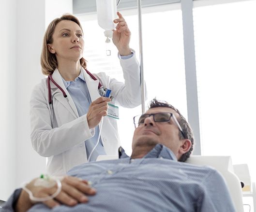
<svg viewBox="0 0 256 212">
<path fill-rule="evenodd" d="M 119 147 L 119 158 L 126 158 L 129 157 L 126 155 L 124 149 L 122 147 Z M 163 144 L 156 144 L 155 147 L 143 158 L 165 158 L 165 159 L 170 159 L 170 160 L 175 160 L 177 161 L 176 156 L 174 153 L 164 146 Z"/>
</svg>

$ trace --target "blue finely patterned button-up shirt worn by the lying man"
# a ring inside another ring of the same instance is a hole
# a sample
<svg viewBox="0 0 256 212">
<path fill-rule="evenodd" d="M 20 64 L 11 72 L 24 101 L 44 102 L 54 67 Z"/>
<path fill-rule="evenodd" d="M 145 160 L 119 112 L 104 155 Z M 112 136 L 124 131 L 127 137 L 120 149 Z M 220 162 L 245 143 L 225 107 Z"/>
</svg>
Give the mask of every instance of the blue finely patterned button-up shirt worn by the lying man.
<svg viewBox="0 0 256 212">
<path fill-rule="evenodd" d="M 89 180 L 97 193 L 88 203 L 54 212 L 235 212 L 219 172 L 178 162 L 161 144 L 140 159 L 85 163 L 69 174 Z M 47 211 L 43 204 L 30 209 Z"/>
</svg>

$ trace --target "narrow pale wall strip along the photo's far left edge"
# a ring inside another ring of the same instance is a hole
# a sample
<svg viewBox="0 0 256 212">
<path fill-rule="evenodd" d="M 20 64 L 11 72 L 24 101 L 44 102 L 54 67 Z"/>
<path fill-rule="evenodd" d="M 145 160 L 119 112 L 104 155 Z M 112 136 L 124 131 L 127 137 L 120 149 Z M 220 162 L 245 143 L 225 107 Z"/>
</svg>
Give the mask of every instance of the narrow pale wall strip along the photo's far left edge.
<svg viewBox="0 0 256 212">
<path fill-rule="evenodd" d="M 15 185 L 16 0 L 0 1 L 0 199 Z"/>
</svg>

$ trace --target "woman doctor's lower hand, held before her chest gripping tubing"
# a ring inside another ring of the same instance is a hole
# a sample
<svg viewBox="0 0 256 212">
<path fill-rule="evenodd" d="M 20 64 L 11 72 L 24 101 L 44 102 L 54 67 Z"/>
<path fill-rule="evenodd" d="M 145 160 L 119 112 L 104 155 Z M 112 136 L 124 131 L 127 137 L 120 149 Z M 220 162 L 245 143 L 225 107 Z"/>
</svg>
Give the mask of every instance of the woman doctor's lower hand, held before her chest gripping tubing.
<svg viewBox="0 0 256 212">
<path fill-rule="evenodd" d="M 88 113 L 87 113 L 87 122 L 89 128 L 96 127 L 101 118 L 107 115 L 107 102 L 111 101 L 110 98 L 99 97 L 98 99 L 91 102 Z"/>
</svg>

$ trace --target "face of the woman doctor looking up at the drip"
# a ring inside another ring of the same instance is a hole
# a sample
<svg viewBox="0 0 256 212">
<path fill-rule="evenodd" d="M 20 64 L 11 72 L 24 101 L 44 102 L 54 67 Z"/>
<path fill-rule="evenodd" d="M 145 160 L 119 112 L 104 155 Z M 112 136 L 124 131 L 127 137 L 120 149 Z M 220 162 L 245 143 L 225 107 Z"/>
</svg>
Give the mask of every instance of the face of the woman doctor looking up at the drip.
<svg viewBox="0 0 256 212">
<path fill-rule="evenodd" d="M 47 47 L 52 54 L 56 55 L 58 63 L 63 60 L 78 61 L 82 58 L 83 32 L 74 21 L 60 21 L 56 25 L 52 38 L 53 42 L 47 44 Z"/>
</svg>

